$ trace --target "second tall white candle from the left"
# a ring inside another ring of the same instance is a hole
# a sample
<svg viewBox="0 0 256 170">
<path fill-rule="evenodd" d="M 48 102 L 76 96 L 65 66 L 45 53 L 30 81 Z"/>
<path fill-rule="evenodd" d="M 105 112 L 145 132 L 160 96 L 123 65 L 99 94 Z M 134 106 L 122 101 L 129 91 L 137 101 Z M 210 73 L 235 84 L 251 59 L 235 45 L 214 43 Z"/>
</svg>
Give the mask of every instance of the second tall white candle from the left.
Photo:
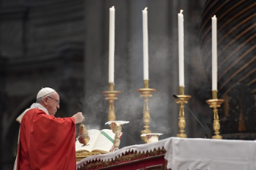
<svg viewBox="0 0 256 170">
<path fill-rule="evenodd" d="M 148 11 L 147 7 L 142 10 L 143 18 L 143 66 L 144 80 L 148 79 Z"/>
</svg>

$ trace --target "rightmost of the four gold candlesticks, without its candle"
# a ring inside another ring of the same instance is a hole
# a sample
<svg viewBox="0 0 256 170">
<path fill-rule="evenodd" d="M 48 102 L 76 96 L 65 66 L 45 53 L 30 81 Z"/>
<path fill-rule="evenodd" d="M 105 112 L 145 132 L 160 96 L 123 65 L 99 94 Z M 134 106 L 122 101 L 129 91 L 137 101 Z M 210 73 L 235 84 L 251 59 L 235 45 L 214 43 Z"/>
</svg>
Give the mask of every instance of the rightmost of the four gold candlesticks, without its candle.
<svg viewBox="0 0 256 170">
<path fill-rule="evenodd" d="M 218 119 L 217 115 L 217 107 L 221 107 L 221 103 L 223 103 L 225 100 L 224 99 L 217 99 L 217 91 L 212 91 L 212 97 L 213 99 L 208 99 L 206 100 L 206 103 L 209 104 L 209 107 L 213 108 L 213 129 L 215 136 L 213 136 L 213 139 L 221 140 L 222 136 L 220 136 L 219 130 L 221 129 L 221 124 Z"/>
</svg>

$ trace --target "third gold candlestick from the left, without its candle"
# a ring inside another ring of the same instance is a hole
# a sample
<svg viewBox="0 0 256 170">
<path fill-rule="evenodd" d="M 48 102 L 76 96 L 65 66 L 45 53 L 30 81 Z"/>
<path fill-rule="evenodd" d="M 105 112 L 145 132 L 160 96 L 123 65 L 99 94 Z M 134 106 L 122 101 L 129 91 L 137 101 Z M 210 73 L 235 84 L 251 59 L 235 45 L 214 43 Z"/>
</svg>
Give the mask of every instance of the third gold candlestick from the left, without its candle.
<svg viewBox="0 0 256 170">
<path fill-rule="evenodd" d="M 184 103 L 188 103 L 189 99 L 191 98 L 191 95 L 184 95 L 184 87 L 179 87 L 180 95 L 177 95 L 180 99 L 184 101 Z M 180 127 L 180 133 L 177 134 L 177 137 L 180 138 L 187 138 L 187 135 L 185 132 L 185 114 L 184 114 L 184 103 L 181 102 L 180 99 L 176 99 L 176 103 L 180 104 L 180 114 L 179 114 L 179 127 Z"/>
</svg>

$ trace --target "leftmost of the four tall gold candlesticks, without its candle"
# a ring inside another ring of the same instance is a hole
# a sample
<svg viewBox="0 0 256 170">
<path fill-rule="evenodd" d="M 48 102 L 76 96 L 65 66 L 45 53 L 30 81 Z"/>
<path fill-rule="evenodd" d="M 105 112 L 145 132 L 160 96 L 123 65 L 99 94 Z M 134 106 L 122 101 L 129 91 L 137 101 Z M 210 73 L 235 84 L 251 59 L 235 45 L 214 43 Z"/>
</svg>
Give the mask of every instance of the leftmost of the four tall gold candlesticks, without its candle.
<svg viewBox="0 0 256 170">
<path fill-rule="evenodd" d="M 115 121 L 115 107 L 114 100 L 117 99 L 117 95 L 121 93 L 121 91 L 114 91 L 114 83 L 108 83 L 109 91 L 102 91 L 101 94 L 106 96 L 106 99 L 109 101 L 109 111 L 108 111 L 108 121 Z"/>
</svg>

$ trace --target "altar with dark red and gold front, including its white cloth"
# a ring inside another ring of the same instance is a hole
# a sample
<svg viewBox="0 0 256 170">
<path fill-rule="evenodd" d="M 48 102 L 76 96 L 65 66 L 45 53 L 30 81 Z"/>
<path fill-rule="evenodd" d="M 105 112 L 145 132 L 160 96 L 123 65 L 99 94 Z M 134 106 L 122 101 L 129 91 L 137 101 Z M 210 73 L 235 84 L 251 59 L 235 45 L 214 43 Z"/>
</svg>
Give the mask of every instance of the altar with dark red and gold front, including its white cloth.
<svg viewBox="0 0 256 170">
<path fill-rule="evenodd" d="M 76 169 L 255 170 L 256 141 L 171 137 L 89 156 Z"/>
</svg>

